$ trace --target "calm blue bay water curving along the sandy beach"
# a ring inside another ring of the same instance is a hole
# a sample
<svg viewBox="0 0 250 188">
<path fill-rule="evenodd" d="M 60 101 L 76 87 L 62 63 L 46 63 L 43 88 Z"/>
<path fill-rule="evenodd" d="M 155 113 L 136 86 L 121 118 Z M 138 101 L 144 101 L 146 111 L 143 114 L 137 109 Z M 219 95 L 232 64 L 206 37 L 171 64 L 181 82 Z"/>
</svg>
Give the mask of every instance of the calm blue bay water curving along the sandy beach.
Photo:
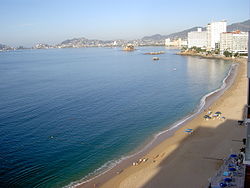
<svg viewBox="0 0 250 188">
<path fill-rule="evenodd" d="M 0 187 L 67 186 L 191 114 L 232 63 L 176 52 L 0 53 Z"/>
</svg>

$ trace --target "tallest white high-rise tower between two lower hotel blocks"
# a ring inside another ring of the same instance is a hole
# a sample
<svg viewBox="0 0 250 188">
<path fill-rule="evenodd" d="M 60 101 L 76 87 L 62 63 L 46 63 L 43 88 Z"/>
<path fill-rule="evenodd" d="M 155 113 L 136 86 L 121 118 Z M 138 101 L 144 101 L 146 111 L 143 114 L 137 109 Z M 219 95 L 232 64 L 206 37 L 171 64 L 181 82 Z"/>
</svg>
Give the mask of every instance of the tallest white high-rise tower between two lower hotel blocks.
<svg viewBox="0 0 250 188">
<path fill-rule="evenodd" d="M 220 34 L 227 31 L 227 22 L 211 22 L 207 25 L 207 48 L 208 50 L 219 48 Z"/>
</svg>

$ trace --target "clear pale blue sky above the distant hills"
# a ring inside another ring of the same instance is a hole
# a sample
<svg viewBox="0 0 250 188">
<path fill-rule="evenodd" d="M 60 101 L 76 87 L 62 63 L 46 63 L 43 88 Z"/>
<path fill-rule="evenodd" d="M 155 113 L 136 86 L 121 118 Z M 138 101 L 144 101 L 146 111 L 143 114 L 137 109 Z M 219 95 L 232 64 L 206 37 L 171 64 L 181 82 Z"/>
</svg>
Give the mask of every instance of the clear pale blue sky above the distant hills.
<svg viewBox="0 0 250 188">
<path fill-rule="evenodd" d="M 250 0 L 0 0 L 0 43 L 138 39 L 250 18 Z"/>
</svg>

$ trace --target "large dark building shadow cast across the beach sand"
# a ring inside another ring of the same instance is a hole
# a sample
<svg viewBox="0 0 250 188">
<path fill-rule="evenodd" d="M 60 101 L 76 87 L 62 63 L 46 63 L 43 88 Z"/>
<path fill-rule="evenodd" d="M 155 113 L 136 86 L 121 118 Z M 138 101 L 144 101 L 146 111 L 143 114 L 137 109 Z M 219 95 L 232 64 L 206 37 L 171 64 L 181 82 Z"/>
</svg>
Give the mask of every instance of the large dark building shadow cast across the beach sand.
<svg viewBox="0 0 250 188">
<path fill-rule="evenodd" d="M 245 129 L 232 119 L 216 128 L 198 127 L 158 164 L 157 173 L 142 188 L 207 188 L 223 159 L 243 147 Z"/>
</svg>

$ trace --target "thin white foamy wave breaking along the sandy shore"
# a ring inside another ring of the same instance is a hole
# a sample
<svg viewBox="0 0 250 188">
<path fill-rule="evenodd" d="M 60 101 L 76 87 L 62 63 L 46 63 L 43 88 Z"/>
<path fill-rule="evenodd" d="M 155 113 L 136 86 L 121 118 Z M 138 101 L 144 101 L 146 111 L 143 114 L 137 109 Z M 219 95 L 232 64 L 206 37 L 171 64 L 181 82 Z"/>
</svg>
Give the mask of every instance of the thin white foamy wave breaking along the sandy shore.
<svg viewBox="0 0 250 188">
<path fill-rule="evenodd" d="M 82 185 L 82 184 L 84 184 L 84 183 L 87 183 L 87 182 L 92 181 L 93 179 L 95 179 L 95 178 L 97 178 L 97 177 L 99 177 L 99 176 L 105 174 L 107 171 L 111 170 L 112 168 L 114 168 L 117 164 L 121 163 L 122 161 L 124 161 L 124 160 L 126 160 L 126 159 L 128 159 L 128 158 L 134 157 L 134 156 L 136 156 L 136 155 L 138 155 L 138 154 L 140 154 L 140 153 L 143 153 L 143 152 L 146 151 L 147 149 L 149 149 L 150 146 L 152 146 L 153 143 L 156 142 L 156 140 L 159 138 L 159 136 L 161 136 L 161 135 L 163 135 L 163 134 L 165 134 L 165 133 L 167 133 L 167 132 L 169 132 L 169 131 L 171 131 L 171 130 L 177 129 L 179 126 L 183 125 L 183 124 L 184 124 L 185 122 L 187 122 L 188 120 L 191 120 L 191 119 L 193 119 L 194 117 L 196 117 L 198 114 L 200 114 L 200 113 L 202 112 L 202 110 L 205 109 L 205 107 L 206 107 L 206 100 L 207 100 L 210 96 L 214 95 L 215 93 L 219 93 L 219 92 L 225 90 L 227 87 L 229 87 L 229 86 L 231 85 L 231 84 L 227 84 L 226 81 L 229 79 L 229 77 L 230 77 L 231 75 L 234 75 L 234 74 L 233 74 L 233 73 L 234 73 L 233 71 L 236 69 L 237 66 L 238 66 L 238 64 L 236 64 L 236 63 L 233 63 L 233 64 L 231 65 L 231 67 L 230 67 L 230 69 L 229 69 L 229 71 L 228 71 L 228 74 L 226 75 L 226 77 L 225 77 L 225 78 L 223 79 L 223 81 L 222 81 L 222 85 L 221 85 L 218 89 L 216 89 L 216 90 L 214 90 L 214 91 L 212 91 L 212 92 L 210 92 L 210 93 L 204 95 L 204 96 L 201 98 L 199 105 L 198 105 L 197 108 L 193 111 L 193 113 L 192 113 L 191 115 L 188 115 L 188 116 L 182 118 L 181 120 L 175 122 L 174 124 L 172 124 L 171 126 L 169 126 L 168 129 L 166 129 L 166 130 L 164 130 L 164 131 L 161 131 L 161 132 L 155 134 L 154 137 L 153 137 L 153 139 L 152 139 L 149 143 L 147 143 L 147 144 L 146 144 L 141 150 L 139 150 L 138 152 L 133 153 L 132 155 L 127 155 L 127 156 L 121 157 L 121 158 L 118 159 L 118 160 L 111 160 L 111 161 L 108 161 L 108 162 L 106 162 L 104 165 L 102 165 L 100 168 L 98 168 L 98 169 L 96 169 L 95 171 L 89 173 L 88 175 L 86 175 L 85 177 L 83 177 L 82 179 L 80 179 L 80 180 L 78 180 L 78 181 L 71 182 L 69 185 L 64 186 L 64 188 L 74 188 L 74 187 L 76 187 L 76 186 L 79 186 L 79 185 Z M 231 82 L 231 83 L 232 83 L 232 82 Z M 222 95 L 222 94 L 223 94 L 223 92 L 221 93 L 221 95 Z M 221 96 L 221 95 L 218 95 L 217 97 L 219 97 L 219 96 Z M 214 100 L 213 100 L 213 101 L 214 101 Z"/>
</svg>

